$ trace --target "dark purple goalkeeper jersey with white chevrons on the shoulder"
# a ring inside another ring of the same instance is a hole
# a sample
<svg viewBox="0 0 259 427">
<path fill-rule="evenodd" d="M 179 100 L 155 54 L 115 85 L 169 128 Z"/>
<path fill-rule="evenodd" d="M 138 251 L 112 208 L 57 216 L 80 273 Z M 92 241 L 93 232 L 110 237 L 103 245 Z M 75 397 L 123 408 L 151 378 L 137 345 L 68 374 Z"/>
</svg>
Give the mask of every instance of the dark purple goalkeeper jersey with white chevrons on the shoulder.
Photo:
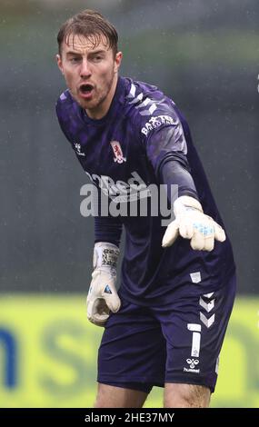
<svg viewBox="0 0 259 427">
<path fill-rule="evenodd" d="M 129 204 L 133 187 L 148 194 L 151 184 L 174 184 L 161 176 L 164 165 L 168 169 L 168 162 L 176 161 L 192 175 L 195 186 L 195 192 L 179 186 L 178 195 L 198 198 L 204 214 L 224 226 L 188 124 L 172 99 L 154 85 L 119 76 L 109 111 L 98 120 L 66 90 L 57 101 L 56 114 L 85 173 L 113 203 Z M 213 292 L 234 273 L 228 236 L 224 243 L 215 242 L 211 253 L 194 251 L 180 236 L 162 248 L 162 214 L 152 214 L 149 204 L 145 215 L 96 217 L 95 241 L 119 243 L 122 226 L 125 253 L 119 294 L 132 303 L 168 303 L 175 292 Z"/>
</svg>

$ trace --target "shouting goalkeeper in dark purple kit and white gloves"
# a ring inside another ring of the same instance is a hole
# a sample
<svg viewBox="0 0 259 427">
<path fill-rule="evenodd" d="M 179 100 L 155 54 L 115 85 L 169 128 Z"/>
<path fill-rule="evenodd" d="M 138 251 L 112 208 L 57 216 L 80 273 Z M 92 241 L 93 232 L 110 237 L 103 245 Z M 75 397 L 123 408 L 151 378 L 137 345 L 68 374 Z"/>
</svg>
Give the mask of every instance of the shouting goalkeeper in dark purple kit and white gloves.
<svg viewBox="0 0 259 427">
<path fill-rule="evenodd" d="M 99 195 L 132 204 L 133 188 L 163 184 L 174 211 L 167 227 L 149 208 L 137 218 L 95 217 L 87 316 L 105 328 L 95 407 L 142 407 L 154 385 L 164 387 L 164 407 L 206 407 L 234 303 L 235 266 L 188 124 L 156 86 L 118 74 L 122 52 L 104 16 L 73 16 L 57 41 L 67 90 L 56 114 Z"/>
</svg>

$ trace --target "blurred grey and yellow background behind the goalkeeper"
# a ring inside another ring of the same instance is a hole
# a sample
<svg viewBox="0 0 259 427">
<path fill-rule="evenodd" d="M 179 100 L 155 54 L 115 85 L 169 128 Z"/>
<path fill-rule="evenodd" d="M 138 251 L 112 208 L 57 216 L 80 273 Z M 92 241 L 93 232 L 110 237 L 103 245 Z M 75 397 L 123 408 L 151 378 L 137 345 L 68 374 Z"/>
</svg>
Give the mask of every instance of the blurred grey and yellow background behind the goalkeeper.
<svg viewBox="0 0 259 427">
<path fill-rule="evenodd" d="M 212 405 L 259 406 L 256 0 L 1 0 L 0 406 L 94 402 L 93 219 L 80 214 L 86 176 L 55 117 L 56 34 L 85 8 L 117 28 L 121 74 L 158 85 L 191 126 L 238 271 Z M 146 406 L 161 405 L 154 388 Z"/>
</svg>

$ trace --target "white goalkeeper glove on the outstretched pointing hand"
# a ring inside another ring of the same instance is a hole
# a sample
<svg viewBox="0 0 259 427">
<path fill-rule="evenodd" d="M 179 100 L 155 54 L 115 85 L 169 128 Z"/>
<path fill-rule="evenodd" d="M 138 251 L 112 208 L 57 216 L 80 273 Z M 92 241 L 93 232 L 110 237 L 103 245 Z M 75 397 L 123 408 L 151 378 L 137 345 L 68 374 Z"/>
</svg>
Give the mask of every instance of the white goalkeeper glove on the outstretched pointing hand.
<svg viewBox="0 0 259 427">
<path fill-rule="evenodd" d="M 191 240 L 191 246 L 198 251 L 212 251 L 214 240 L 224 242 L 224 229 L 213 218 L 204 214 L 202 205 L 188 195 L 182 195 L 174 202 L 175 219 L 167 226 L 162 246 L 171 246 L 180 234 Z"/>
</svg>

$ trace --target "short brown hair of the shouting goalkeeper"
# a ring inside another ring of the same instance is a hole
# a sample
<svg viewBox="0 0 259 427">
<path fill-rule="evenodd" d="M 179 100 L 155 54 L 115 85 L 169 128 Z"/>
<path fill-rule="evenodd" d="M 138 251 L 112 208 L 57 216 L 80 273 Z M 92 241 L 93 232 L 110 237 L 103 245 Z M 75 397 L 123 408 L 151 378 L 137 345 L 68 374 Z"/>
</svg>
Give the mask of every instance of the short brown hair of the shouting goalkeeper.
<svg viewBox="0 0 259 427">
<path fill-rule="evenodd" d="M 93 45 L 98 45 L 105 35 L 107 45 L 113 50 L 114 57 L 118 51 L 118 34 L 115 26 L 109 23 L 107 19 L 99 12 L 91 9 L 85 9 L 65 21 L 58 32 L 57 44 L 59 55 L 62 52 L 63 42 L 67 43 L 69 36 L 83 35 L 91 40 Z"/>
</svg>

